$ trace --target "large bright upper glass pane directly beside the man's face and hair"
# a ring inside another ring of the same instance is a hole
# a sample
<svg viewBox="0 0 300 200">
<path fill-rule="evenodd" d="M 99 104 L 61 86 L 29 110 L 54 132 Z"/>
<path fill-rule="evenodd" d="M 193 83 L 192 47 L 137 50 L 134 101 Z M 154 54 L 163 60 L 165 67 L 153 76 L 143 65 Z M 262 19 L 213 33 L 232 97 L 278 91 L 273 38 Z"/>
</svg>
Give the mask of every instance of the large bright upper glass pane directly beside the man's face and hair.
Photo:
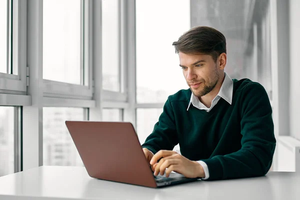
<svg viewBox="0 0 300 200">
<path fill-rule="evenodd" d="M 136 100 L 165 102 L 168 95 L 188 88 L 172 42 L 190 28 L 189 0 L 135 3 Z"/>
</svg>

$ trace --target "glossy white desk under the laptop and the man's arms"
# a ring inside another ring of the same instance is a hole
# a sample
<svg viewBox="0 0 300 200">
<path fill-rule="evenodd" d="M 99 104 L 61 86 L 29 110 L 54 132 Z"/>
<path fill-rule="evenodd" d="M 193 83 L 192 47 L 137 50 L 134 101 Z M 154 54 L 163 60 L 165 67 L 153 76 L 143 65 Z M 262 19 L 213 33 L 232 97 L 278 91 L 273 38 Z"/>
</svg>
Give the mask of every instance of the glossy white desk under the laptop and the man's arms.
<svg viewBox="0 0 300 200">
<path fill-rule="evenodd" d="M 84 167 L 41 166 L 0 177 L 0 199 L 300 199 L 300 173 L 148 188 L 91 178 Z"/>
</svg>

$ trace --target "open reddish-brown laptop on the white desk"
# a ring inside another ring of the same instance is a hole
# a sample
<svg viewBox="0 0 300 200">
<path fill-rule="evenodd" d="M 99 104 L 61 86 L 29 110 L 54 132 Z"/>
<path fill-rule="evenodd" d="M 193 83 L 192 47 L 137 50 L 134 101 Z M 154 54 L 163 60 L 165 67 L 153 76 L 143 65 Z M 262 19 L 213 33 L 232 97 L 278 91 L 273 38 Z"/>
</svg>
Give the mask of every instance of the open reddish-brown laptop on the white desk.
<svg viewBox="0 0 300 200">
<path fill-rule="evenodd" d="M 154 188 L 198 179 L 175 172 L 154 176 L 130 122 L 65 124 L 90 177 Z"/>
</svg>

